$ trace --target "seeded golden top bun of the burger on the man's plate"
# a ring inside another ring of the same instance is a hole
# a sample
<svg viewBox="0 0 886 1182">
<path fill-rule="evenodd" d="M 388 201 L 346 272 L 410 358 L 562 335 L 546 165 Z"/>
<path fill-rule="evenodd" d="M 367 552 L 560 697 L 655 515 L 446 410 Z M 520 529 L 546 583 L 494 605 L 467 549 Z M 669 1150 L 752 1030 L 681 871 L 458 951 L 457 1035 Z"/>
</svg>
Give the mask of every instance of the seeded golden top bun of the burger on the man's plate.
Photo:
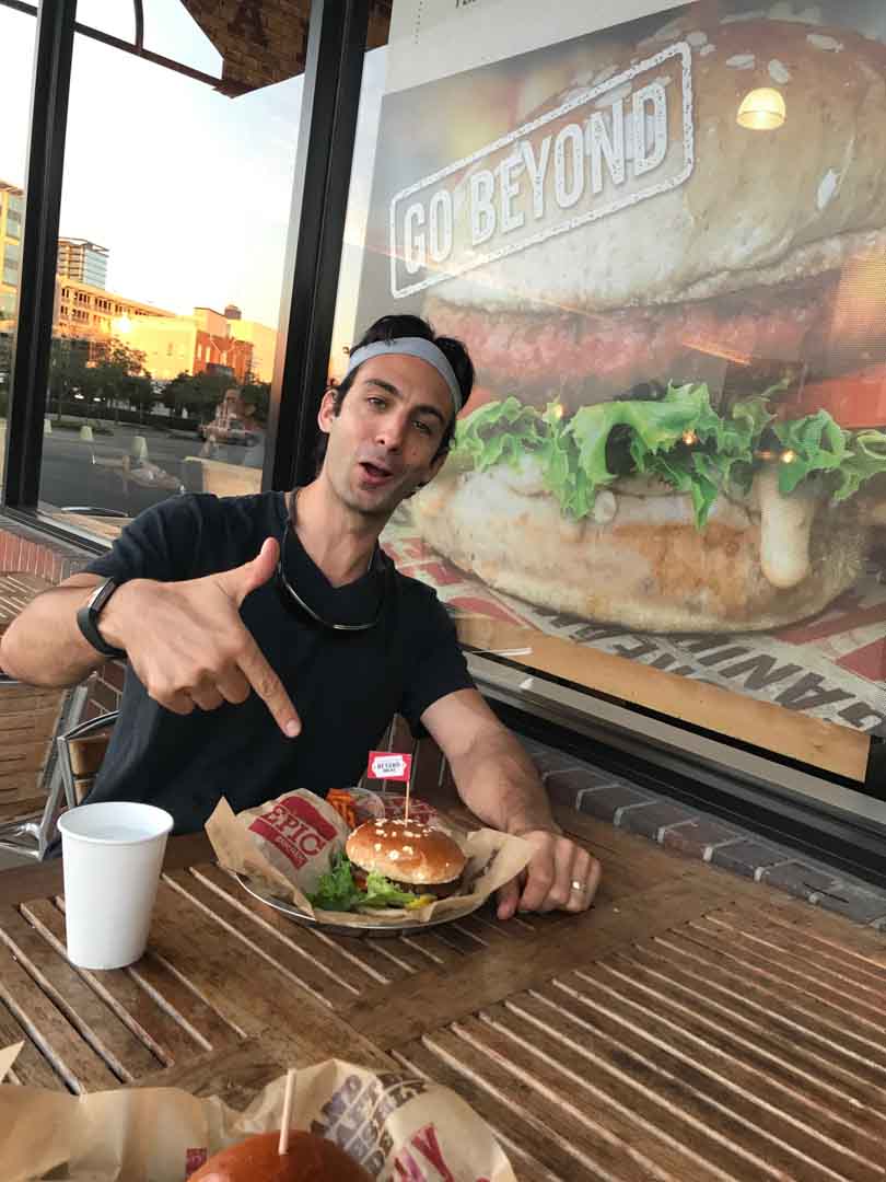
<svg viewBox="0 0 886 1182">
<path fill-rule="evenodd" d="M 367 873 L 416 886 L 454 882 L 467 860 L 451 837 L 415 820 L 367 820 L 351 833 L 345 852 Z"/>
</svg>

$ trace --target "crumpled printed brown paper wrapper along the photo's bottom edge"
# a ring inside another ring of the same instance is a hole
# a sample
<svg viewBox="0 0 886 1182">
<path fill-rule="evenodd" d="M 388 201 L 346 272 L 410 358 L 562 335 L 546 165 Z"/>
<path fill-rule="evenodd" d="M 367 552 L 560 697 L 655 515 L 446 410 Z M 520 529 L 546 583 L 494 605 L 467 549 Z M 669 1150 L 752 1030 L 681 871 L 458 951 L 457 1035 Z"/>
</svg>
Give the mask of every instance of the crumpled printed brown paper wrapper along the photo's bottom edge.
<svg viewBox="0 0 886 1182">
<path fill-rule="evenodd" d="M 0 1079 L 17 1051 L 0 1051 Z M 184 1182 L 207 1156 L 279 1129 L 285 1086 L 281 1076 L 236 1112 L 177 1087 L 69 1096 L 0 1085 L 2 1180 Z M 291 1128 L 337 1142 L 379 1180 L 516 1182 L 484 1122 L 455 1092 L 416 1076 L 338 1059 L 306 1067 Z"/>
</svg>

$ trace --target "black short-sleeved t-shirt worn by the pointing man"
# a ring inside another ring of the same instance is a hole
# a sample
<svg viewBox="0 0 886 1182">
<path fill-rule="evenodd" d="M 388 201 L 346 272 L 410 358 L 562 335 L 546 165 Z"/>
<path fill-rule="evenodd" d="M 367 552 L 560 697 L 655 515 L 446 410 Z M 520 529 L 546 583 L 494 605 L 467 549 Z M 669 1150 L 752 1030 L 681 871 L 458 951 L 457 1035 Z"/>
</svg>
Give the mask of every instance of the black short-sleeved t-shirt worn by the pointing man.
<svg viewBox="0 0 886 1182">
<path fill-rule="evenodd" d="M 87 570 L 125 582 L 194 579 L 230 570 L 286 526 L 282 493 L 176 496 L 142 513 Z M 89 801 L 142 800 L 167 808 L 176 833 L 200 829 L 223 794 L 235 812 L 291 788 L 324 795 L 356 784 L 367 752 L 395 713 L 417 734 L 438 699 L 473 688 L 455 628 L 436 593 L 395 570 L 380 551 L 354 583 L 333 587 L 289 531 L 286 576 L 325 619 L 378 624 L 366 631 L 318 626 L 276 576 L 247 596 L 246 626 L 301 717 L 287 739 L 263 701 L 177 715 L 149 697 L 126 669 L 120 716 Z"/>
</svg>

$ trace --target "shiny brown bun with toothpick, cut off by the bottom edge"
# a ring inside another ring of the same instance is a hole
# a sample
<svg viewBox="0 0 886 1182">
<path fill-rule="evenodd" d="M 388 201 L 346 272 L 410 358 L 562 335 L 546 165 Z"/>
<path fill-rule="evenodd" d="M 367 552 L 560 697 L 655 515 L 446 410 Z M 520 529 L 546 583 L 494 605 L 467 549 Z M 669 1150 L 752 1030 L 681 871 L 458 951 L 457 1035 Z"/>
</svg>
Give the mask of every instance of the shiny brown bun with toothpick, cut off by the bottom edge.
<svg viewBox="0 0 886 1182">
<path fill-rule="evenodd" d="M 282 1155 L 279 1141 L 279 1131 L 247 1137 L 214 1154 L 188 1182 L 370 1182 L 361 1165 L 324 1137 L 293 1130 Z"/>
</svg>

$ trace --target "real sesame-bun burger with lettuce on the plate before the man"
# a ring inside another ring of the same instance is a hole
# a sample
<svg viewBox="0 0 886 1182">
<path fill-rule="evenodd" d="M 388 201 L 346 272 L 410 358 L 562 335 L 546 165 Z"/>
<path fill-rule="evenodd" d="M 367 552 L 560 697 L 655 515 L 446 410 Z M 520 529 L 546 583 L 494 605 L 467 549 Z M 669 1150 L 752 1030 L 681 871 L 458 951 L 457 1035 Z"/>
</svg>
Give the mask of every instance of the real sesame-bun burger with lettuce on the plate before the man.
<svg viewBox="0 0 886 1182">
<path fill-rule="evenodd" d="M 458 890 L 467 858 L 447 833 L 415 820 L 367 820 L 321 875 L 311 904 L 326 911 L 416 910 Z"/>
</svg>

